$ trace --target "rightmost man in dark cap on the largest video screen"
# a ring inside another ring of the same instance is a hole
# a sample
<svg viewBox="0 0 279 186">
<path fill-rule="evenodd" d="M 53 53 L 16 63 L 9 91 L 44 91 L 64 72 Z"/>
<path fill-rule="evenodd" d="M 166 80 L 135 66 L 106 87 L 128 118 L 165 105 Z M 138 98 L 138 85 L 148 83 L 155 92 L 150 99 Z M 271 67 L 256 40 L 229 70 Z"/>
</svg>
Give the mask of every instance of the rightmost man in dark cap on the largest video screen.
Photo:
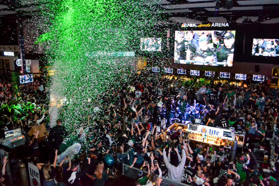
<svg viewBox="0 0 279 186">
<path fill-rule="evenodd" d="M 216 51 L 218 62 L 224 66 L 232 66 L 234 57 L 234 34 L 227 32 L 224 37 L 224 45 Z"/>
</svg>

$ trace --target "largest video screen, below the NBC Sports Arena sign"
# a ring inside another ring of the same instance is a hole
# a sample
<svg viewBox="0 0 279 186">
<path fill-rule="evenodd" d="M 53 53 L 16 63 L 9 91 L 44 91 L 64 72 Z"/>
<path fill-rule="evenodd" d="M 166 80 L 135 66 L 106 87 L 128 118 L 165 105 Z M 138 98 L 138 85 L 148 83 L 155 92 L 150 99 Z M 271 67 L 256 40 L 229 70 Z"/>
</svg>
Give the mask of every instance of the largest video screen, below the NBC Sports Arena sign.
<svg viewBox="0 0 279 186">
<path fill-rule="evenodd" d="M 175 31 L 174 63 L 233 66 L 236 31 Z"/>
</svg>

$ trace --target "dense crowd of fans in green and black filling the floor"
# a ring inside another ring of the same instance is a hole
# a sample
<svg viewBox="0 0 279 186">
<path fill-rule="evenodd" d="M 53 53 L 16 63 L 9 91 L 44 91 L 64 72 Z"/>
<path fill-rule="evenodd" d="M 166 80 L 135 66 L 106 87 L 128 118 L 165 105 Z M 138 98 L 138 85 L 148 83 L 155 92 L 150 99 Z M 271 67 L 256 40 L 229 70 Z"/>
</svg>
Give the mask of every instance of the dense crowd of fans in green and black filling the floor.
<svg viewBox="0 0 279 186">
<path fill-rule="evenodd" d="M 27 139 L 24 156 L 37 161 L 42 185 L 106 185 L 121 172 L 123 163 L 138 169 L 134 175 L 137 186 L 162 185 L 164 178 L 193 186 L 279 183 L 276 88 L 183 81 L 142 71 L 103 95 L 100 117 L 84 116 L 86 125 L 67 134 L 61 119 L 53 128 L 48 127 L 48 106 L 40 100 L 39 81 L 21 85 L 18 95 L 11 94 L 7 80 L 2 80 L 1 85 L 1 130 L 22 126 Z M 195 145 L 183 138 L 181 131 L 175 136 L 164 132 L 173 121 L 195 118 L 200 118 L 202 125 L 232 126 L 246 132 L 247 151 L 229 162 L 222 145 L 210 156 L 212 146 Z M 31 136 L 27 134 L 38 124 L 50 130 L 44 141 L 37 140 L 37 130 Z M 274 161 L 272 168 L 258 167 L 254 145 L 272 140 L 275 149 L 271 153 L 276 157 L 270 159 Z M 76 143 L 81 144 L 80 151 L 73 157 L 66 154 L 58 162 L 58 157 Z"/>
</svg>

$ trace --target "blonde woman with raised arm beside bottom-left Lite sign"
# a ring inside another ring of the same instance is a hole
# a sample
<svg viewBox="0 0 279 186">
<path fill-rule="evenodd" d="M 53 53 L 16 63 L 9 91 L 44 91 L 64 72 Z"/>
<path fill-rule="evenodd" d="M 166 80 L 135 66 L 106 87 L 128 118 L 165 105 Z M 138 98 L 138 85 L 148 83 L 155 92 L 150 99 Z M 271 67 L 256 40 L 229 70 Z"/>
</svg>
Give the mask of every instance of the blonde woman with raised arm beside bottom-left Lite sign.
<svg viewBox="0 0 279 186">
<path fill-rule="evenodd" d="M 55 151 L 55 157 L 53 165 L 51 166 L 50 162 L 47 161 L 45 163 L 37 163 L 37 167 L 42 172 L 44 180 L 43 186 L 55 186 L 55 167 L 56 167 L 56 160 L 57 160 L 57 150 Z"/>
</svg>

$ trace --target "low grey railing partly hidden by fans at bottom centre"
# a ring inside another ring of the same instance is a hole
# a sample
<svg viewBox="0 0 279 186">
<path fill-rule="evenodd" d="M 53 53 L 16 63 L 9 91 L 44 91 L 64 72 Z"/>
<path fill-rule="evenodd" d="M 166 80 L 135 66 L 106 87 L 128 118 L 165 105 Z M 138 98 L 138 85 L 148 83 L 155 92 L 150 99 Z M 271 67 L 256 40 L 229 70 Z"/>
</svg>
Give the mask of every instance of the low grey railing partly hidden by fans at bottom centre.
<svg viewBox="0 0 279 186">
<path fill-rule="evenodd" d="M 137 169 L 135 167 L 130 168 L 128 165 L 126 165 L 124 163 L 122 164 L 122 174 L 125 175 L 126 177 L 135 179 L 136 173 L 138 170 L 139 169 Z M 143 171 L 143 176 L 146 176 L 146 175 L 147 175 L 147 172 Z M 163 178 L 164 179 L 160 186 L 190 186 L 190 185 L 187 185 L 187 184 L 184 184 L 181 182 L 174 181 L 172 179 L 168 179 L 165 177 L 163 177 Z"/>
</svg>

